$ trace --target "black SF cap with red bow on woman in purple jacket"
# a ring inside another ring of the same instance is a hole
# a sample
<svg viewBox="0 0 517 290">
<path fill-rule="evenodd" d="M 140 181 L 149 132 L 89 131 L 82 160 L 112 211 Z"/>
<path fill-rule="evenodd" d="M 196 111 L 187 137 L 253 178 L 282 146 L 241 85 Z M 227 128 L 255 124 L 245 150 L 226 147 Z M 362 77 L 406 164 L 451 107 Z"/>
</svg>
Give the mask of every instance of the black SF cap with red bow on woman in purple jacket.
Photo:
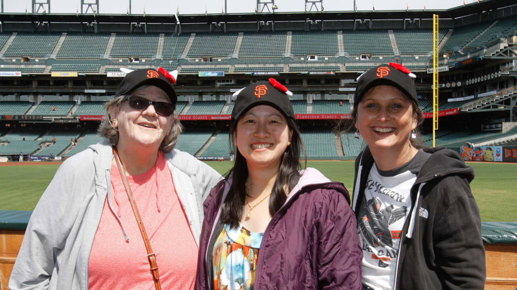
<svg viewBox="0 0 517 290">
<path fill-rule="evenodd" d="M 232 121 L 238 120 L 242 114 L 258 105 L 275 107 L 286 118 L 295 121 L 293 105 L 288 97 L 292 94 L 274 78 L 250 84 L 233 94 L 237 99 L 232 110 Z"/>
</svg>

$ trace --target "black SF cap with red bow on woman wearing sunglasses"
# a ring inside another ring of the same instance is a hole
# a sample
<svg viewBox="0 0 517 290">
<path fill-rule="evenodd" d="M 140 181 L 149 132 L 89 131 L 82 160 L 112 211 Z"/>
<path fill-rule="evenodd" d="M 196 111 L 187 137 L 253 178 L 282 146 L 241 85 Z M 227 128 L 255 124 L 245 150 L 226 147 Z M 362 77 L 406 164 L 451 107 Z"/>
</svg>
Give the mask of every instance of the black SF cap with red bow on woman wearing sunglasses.
<svg viewBox="0 0 517 290">
<path fill-rule="evenodd" d="M 169 99 L 171 100 L 172 105 L 175 106 L 176 102 L 178 101 L 178 96 L 176 95 L 176 91 L 174 91 L 174 88 L 172 87 L 173 83 L 171 83 L 171 80 L 166 78 L 163 73 L 169 75 L 169 73 L 164 71 L 163 69 L 157 71 L 153 68 L 139 69 L 128 73 L 124 77 L 120 85 L 118 85 L 118 88 L 115 91 L 115 98 L 117 96 L 131 93 L 132 91 L 138 89 L 141 86 L 150 85 L 156 86 L 164 90 L 165 93 L 169 95 Z M 169 78 L 171 77 L 172 76 L 169 76 Z M 174 79 L 174 83 L 175 82 L 176 80 Z"/>
</svg>

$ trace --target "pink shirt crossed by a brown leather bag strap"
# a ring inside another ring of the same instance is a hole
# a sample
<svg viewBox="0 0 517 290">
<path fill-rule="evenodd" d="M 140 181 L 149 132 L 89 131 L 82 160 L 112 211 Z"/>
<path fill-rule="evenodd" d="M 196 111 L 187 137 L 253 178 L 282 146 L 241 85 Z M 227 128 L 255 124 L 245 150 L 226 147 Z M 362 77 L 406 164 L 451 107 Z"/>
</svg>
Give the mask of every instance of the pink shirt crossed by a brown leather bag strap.
<svg viewBox="0 0 517 290">
<path fill-rule="evenodd" d="M 90 252 L 88 288 L 155 289 L 142 234 L 115 163 L 110 176 L 111 202 L 129 241 L 125 241 L 107 199 Z M 128 181 L 156 254 L 162 289 L 194 289 L 198 248 L 163 154 L 159 152 L 153 168 L 128 176 Z"/>
</svg>

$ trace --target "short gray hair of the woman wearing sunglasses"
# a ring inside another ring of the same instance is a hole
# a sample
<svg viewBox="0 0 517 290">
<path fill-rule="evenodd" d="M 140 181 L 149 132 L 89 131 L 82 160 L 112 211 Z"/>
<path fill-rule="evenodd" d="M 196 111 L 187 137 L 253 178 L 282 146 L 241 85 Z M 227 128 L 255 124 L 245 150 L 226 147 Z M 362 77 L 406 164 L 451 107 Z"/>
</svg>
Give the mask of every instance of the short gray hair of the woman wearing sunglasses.
<svg viewBox="0 0 517 290">
<path fill-rule="evenodd" d="M 104 108 L 106 109 L 106 115 L 104 116 L 104 119 L 101 121 L 99 129 L 97 130 L 100 136 L 110 140 L 112 146 L 116 146 L 118 143 L 118 129 L 113 126 L 110 117 L 110 109 L 116 107 L 118 111 L 120 109 L 120 105 L 125 99 L 125 95 L 117 96 L 104 105 Z M 176 142 L 178 141 L 179 134 L 183 132 L 183 125 L 181 125 L 181 122 L 179 121 L 176 110 L 174 110 L 172 118 L 173 123 L 171 130 L 169 131 L 169 134 L 163 138 L 163 141 L 160 144 L 160 151 L 163 153 L 169 153 L 174 149 Z"/>
</svg>

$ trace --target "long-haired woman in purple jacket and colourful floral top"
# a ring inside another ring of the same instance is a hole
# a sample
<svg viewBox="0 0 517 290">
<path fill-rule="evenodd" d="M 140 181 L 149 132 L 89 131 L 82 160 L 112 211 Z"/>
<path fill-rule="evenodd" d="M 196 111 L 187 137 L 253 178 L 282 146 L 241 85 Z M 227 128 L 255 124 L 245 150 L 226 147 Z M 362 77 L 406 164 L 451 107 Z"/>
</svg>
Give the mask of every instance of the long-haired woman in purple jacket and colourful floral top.
<svg viewBox="0 0 517 290">
<path fill-rule="evenodd" d="M 234 168 L 206 199 L 196 289 L 360 289 L 348 192 L 314 168 L 275 79 L 237 91 Z M 236 150 L 235 150 L 236 149 Z"/>
</svg>

